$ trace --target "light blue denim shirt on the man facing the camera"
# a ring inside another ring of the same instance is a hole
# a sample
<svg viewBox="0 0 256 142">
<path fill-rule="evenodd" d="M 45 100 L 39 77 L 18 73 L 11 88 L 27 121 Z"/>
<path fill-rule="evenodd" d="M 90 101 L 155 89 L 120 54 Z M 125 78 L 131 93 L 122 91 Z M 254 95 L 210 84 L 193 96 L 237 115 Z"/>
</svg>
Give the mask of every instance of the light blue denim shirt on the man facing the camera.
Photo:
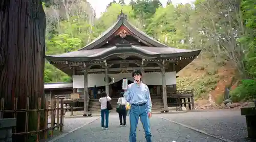
<svg viewBox="0 0 256 142">
<path fill-rule="evenodd" d="M 151 112 L 152 102 L 150 97 L 150 89 L 144 83 L 131 83 L 128 85 L 127 91 L 124 92 L 124 98 L 132 104 L 146 103 L 147 111 Z"/>
</svg>

